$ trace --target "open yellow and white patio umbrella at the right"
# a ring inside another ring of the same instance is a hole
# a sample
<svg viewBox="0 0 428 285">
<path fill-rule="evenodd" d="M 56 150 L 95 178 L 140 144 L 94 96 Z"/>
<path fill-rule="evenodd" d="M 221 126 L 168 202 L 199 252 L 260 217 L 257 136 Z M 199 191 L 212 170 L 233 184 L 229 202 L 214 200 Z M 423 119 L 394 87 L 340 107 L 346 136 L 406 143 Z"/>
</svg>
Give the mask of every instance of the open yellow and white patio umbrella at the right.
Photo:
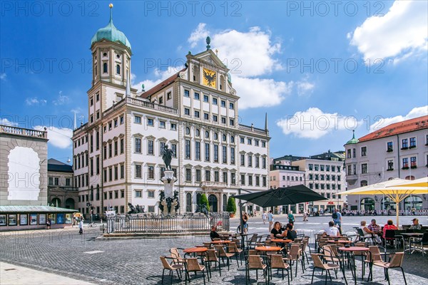
<svg viewBox="0 0 428 285">
<path fill-rule="evenodd" d="M 349 191 L 336 193 L 336 195 L 385 195 L 397 204 L 397 227 L 399 224 L 399 202 L 410 195 L 428 194 L 428 177 L 417 180 L 404 180 L 395 178 Z"/>
</svg>

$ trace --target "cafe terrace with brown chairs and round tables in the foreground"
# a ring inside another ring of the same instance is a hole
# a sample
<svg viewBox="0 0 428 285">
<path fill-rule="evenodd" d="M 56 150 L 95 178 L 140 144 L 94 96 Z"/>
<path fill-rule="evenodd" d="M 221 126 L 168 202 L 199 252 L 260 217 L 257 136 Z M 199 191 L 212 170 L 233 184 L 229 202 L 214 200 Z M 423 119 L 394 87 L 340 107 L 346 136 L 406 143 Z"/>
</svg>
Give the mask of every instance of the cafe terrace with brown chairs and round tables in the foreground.
<svg viewBox="0 0 428 285">
<path fill-rule="evenodd" d="M 294 241 L 225 233 L 163 253 L 159 284 L 407 284 L 404 256 L 418 254 L 420 270 L 426 270 L 427 236 L 424 230 L 398 230 L 377 246 L 357 232 L 301 234 Z"/>
</svg>

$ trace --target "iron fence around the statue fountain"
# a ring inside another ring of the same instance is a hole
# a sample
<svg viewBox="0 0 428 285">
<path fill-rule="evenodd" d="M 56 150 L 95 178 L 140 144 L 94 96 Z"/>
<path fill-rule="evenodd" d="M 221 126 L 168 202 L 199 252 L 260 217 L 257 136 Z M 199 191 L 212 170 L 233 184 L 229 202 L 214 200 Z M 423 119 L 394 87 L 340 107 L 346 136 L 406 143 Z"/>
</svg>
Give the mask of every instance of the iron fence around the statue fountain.
<svg viewBox="0 0 428 285">
<path fill-rule="evenodd" d="M 228 212 L 205 214 L 188 213 L 175 217 L 155 214 L 127 214 L 107 217 L 107 233 L 112 234 L 173 234 L 210 232 L 211 226 L 218 231 L 230 230 Z"/>
</svg>

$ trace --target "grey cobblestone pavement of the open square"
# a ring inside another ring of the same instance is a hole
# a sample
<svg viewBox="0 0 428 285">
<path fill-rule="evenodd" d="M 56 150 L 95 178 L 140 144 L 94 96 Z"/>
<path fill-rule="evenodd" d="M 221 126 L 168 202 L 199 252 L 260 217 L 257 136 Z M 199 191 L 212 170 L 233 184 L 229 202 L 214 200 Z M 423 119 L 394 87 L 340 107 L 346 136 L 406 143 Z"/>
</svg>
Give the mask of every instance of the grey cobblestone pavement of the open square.
<svg viewBox="0 0 428 285">
<path fill-rule="evenodd" d="M 370 221 L 372 217 L 364 217 Z M 394 217 L 392 217 L 394 218 Z M 285 217 L 277 217 L 285 221 Z M 301 222 L 297 217 L 296 228 L 308 235 L 323 229 L 330 217 L 310 217 L 309 222 Z M 344 229 L 352 229 L 362 217 L 345 217 Z M 377 217 L 378 223 L 386 222 L 388 217 Z M 407 224 L 412 217 L 402 217 L 402 223 Z M 408 220 L 408 221 L 407 221 Z M 422 224 L 427 224 L 427 217 L 420 217 Z M 263 224 L 260 217 L 251 218 L 250 233 L 267 233 L 267 224 Z M 231 229 L 236 229 L 238 219 L 233 219 Z M 207 237 L 180 237 L 164 239 L 96 239 L 101 234 L 99 229 L 85 229 L 83 235 L 78 234 L 78 229 L 49 232 L 36 231 L 25 234 L 14 232 L 0 233 L 0 260 L 11 264 L 27 266 L 39 271 L 45 271 L 73 279 L 89 281 L 96 284 L 161 284 L 162 266 L 159 256 L 168 255 L 171 247 L 193 247 L 208 241 Z M 312 235 L 313 236 L 313 235 Z M 308 270 L 302 273 L 299 268 L 297 277 L 292 284 L 310 284 L 312 276 L 312 263 L 306 265 Z M 412 264 L 412 268 L 406 264 Z M 244 266 L 238 266 L 232 262 L 230 271 L 222 270 L 222 276 L 218 271 L 213 271 L 213 279 L 210 284 L 245 284 Z M 406 254 L 404 270 L 408 284 L 426 284 L 428 281 L 428 254 Z M 358 264 L 361 276 L 361 265 Z M 314 284 L 324 284 L 324 279 L 315 276 Z M 344 284 L 341 274 L 335 279 L 332 274 L 332 284 Z M 402 284 L 401 271 L 390 271 L 392 284 Z M 191 276 L 193 278 L 193 274 Z M 366 274 L 367 277 L 367 274 Z M 166 277 L 168 279 L 168 276 Z M 350 271 L 347 271 L 347 280 L 352 280 Z M 168 280 L 169 281 L 169 280 Z M 178 281 L 175 275 L 174 281 Z M 251 281 L 255 282 L 255 273 L 251 274 Z M 259 281 L 263 281 L 260 279 Z M 195 279 L 193 284 L 203 283 L 202 276 Z M 352 283 L 352 282 L 350 282 Z M 359 284 L 367 284 L 358 281 Z M 184 282 L 183 282 L 184 284 Z M 279 275 L 273 276 L 271 284 L 283 284 Z M 370 284 L 387 284 L 384 281 L 382 269 L 375 269 L 373 281 Z"/>
</svg>

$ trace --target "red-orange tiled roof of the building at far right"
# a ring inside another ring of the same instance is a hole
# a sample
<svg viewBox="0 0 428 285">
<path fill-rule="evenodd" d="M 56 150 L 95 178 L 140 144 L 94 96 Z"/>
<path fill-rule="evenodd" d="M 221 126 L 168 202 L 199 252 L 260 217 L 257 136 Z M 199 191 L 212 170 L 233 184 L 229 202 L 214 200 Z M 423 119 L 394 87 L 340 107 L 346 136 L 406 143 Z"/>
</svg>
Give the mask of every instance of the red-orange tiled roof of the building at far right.
<svg viewBox="0 0 428 285">
<path fill-rule="evenodd" d="M 393 123 L 387 125 L 384 128 L 374 131 L 362 138 L 359 138 L 359 142 L 365 142 L 367 140 L 377 140 L 378 138 L 387 138 L 392 135 L 399 135 L 402 133 L 409 133 L 415 130 L 423 130 L 428 128 L 428 115 L 410 120 L 404 120 L 399 123 Z"/>
</svg>

